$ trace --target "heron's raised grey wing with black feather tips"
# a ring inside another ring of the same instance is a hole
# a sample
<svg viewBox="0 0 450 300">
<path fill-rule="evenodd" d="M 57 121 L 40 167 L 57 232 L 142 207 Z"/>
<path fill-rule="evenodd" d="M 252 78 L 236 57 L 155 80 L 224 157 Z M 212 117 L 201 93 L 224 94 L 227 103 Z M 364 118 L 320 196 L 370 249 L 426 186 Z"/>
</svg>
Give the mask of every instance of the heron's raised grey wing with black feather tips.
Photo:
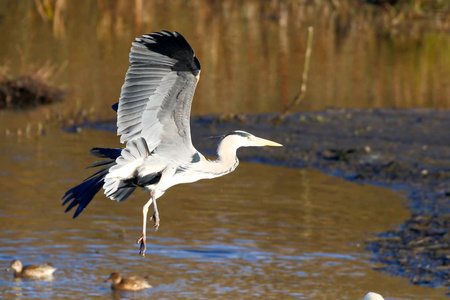
<svg viewBox="0 0 450 300">
<path fill-rule="evenodd" d="M 143 137 L 150 151 L 195 151 L 189 121 L 199 75 L 200 62 L 181 34 L 162 31 L 137 38 L 117 110 L 120 142 Z"/>
</svg>

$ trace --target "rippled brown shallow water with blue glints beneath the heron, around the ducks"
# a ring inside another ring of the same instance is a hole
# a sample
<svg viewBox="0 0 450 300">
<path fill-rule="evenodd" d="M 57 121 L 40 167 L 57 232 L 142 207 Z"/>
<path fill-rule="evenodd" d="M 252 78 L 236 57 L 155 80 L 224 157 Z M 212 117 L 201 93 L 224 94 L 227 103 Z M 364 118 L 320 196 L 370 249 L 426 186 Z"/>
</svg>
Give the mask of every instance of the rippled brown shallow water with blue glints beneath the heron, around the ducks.
<svg viewBox="0 0 450 300">
<path fill-rule="evenodd" d="M 92 146 L 117 146 L 114 133 L 52 132 L 9 137 L 0 149 L 0 266 L 52 262 L 53 281 L 0 272 L 0 296 L 98 299 L 442 299 L 374 268 L 363 240 L 408 215 L 393 191 L 317 171 L 241 163 L 230 175 L 176 186 L 160 199 L 161 227 L 138 256 L 141 207 L 97 196 L 77 219 L 60 198 L 88 176 Z M 245 150 L 244 150 L 245 151 Z M 154 288 L 113 293 L 117 271 Z"/>
</svg>

